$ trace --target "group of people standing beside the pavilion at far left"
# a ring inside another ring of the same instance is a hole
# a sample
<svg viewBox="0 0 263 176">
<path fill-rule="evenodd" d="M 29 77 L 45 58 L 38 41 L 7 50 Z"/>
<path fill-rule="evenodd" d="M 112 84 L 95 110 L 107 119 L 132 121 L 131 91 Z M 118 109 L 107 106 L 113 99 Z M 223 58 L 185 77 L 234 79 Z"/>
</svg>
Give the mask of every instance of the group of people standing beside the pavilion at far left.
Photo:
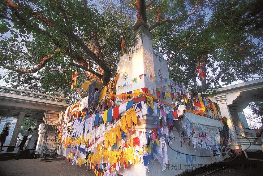
<svg viewBox="0 0 263 176">
<path fill-rule="evenodd" d="M 9 135 L 8 133 L 8 127 L 6 127 L 2 133 L 0 134 L 0 143 L 1 143 L 1 151 L 2 150 L 2 147 L 6 141 L 6 137 Z M 27 145 L 27 149 L 35 149 L 35 146 L 36 146 L 36 142 L 37 142 L 37 134 L 38 134 L 38 130 L 37 130 L 37 127 L 34 129 L 34 131 L 32 131 L 31 128 L 28 128 L 28 130 L 25 130 L 24 131 L 24 134 L 23 134 L 23 139 L 21 140 L 21 143 L 18 145 L 19 147 L 19 150 L 23 150 L 24 146 L 25 146 L 25 143 L 28 141 L 28 145 Z M 32 136 L 31 138 L 28 138 L 28 136 Z M 22 136 L 21 136 L 22 137 Z M 17 146 L 16 146 L 17 147 Z"/>
</svg>

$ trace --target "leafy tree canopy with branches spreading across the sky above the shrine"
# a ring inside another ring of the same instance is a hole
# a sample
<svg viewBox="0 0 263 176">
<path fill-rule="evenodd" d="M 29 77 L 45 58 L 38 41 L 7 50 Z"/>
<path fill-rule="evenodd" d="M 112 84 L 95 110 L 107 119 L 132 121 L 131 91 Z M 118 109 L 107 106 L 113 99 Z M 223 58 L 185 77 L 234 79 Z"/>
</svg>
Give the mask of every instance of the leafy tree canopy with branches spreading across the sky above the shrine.
<svg viewBox="0 0 263 176">
<path fill-rule="evenodd" d="M 135 0 L 1 0 L 3 79 L 79 99 L 86 71 L 104 84 L 115 76 L 120 36 L 128 48 L 138 10 L 146 11 L 153 47 L 168 60 L 175 82 L 214 90 L 263 77 L 261 0 L 147 0 L 145 9 Z M 206 76 L 201 83 L 198 61 Z M 79 93 L 70 90 L 76 69 Z"/>
</svg>

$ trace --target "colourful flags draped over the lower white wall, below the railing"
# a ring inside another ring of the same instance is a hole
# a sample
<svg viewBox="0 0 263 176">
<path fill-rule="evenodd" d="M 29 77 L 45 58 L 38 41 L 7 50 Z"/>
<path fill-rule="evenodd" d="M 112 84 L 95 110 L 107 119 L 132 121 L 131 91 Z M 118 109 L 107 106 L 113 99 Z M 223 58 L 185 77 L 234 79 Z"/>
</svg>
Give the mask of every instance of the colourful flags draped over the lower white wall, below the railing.
<svg viewBox="0 0 263 176">
<path fill-rule="evenodd" d="M 90 166 L 96 175 L 111 176 L 117 175 L 120 168 L 127 169 L 128 165 L 142 163 L 149 169 L 149 163 L 157 159 L 165 170 L 164 164 L 169 162 L 169 139 L 175 138 L 177 143 L 182 140 L 172 132 L 173 121 L 179 119 L 179 110 L 147 93 L 137 93 L 132 97 L 125 103 L 94 114 L 86 113 L 85 98 L 78 105 L 67 108 L 58 138 L 64 148 L 70 147 L 67 158 L 72 164 Z M 146 114 L 147 118 L 153 119 L 156 128 L 146 132 L 136 130 Z M 67 128 L 68 120 L 72 122 L 72 129 Z M 214 135 L 209 135 L 209 129 L 190 122 L 187 117 L 178 122 L 182 123 L 180 130 L 186 131 L 189 138 L 186 142 L 191 142 L 194 148 L 212 152 L 215 140 L 211 138 Z M 190 136 L 191 129 L 201 135 Z M 197 141 L 206 141 L 206 145 L 199 146 Z"/>
</svg>

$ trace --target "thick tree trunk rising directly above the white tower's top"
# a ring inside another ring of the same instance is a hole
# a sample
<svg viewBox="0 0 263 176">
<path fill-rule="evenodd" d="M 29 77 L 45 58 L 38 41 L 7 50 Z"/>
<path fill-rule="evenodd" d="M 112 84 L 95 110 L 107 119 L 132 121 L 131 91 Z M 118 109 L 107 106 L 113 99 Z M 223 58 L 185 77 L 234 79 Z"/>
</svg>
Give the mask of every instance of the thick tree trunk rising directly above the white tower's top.
<svg viewBox="0 0 263 176">
<path fill-rule="evenodd" d="M 133 30 L 136 31 L 136 29 L 138 29 L 140 26 L 144 26 L 146 29 L 148 29 L 149 26 L 147 24 L 145 0 L 137 0 L 136 5 L 137 19 L 133 26 Z"/>
</svg>

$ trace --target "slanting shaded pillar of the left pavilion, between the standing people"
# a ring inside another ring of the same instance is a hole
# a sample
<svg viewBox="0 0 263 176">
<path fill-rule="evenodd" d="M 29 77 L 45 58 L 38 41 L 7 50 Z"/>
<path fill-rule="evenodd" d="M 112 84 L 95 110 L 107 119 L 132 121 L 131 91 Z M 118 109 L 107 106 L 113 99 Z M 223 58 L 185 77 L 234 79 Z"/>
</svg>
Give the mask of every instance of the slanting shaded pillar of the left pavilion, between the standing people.
<svg viewBox="0 0 263 176">
<path fill-rule="evenodd" d="M 7 152 L 14 151 L 14 149 L 15 149 L 16 140 L 17 140 L 17 137 L 18 137 L 21 125 L 23 123 L 25 114 L 26 114 L 26 110 L 25 109 L 22 109 L 21 112 L 19 113 L 19 117 L 18 117 L 18 120 L 16 122 L 15 129 L 14 129 L 14 132 L 13 132 L 10 144 L 9 144 L 9 146 L 7 148 Z"/>
</svg>

